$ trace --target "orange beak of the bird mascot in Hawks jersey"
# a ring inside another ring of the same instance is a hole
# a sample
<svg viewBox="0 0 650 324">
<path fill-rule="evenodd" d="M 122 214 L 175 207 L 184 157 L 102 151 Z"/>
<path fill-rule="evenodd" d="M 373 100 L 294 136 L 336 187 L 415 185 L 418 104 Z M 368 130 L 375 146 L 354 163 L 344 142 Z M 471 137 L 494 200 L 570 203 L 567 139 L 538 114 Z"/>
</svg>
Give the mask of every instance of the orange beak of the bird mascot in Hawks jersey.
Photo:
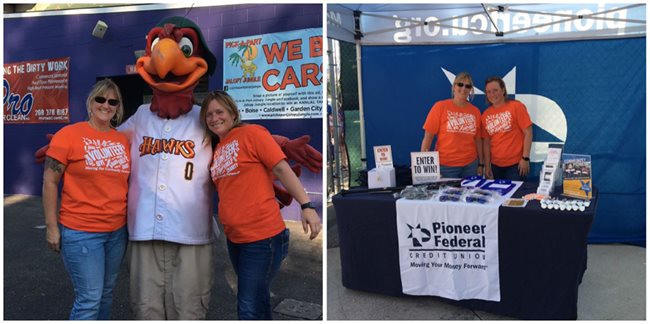
<svg viewBox="0 0 650 324">
<path fill-rule="evenodd" d="M 208 71 L 201 57 L 185 57 L 173 39 L 161 39 L 151 56 L 140 57 L 136 71 L 152 88 L 163 92 L 178 92 L 194 85 Z"/>
</svg>

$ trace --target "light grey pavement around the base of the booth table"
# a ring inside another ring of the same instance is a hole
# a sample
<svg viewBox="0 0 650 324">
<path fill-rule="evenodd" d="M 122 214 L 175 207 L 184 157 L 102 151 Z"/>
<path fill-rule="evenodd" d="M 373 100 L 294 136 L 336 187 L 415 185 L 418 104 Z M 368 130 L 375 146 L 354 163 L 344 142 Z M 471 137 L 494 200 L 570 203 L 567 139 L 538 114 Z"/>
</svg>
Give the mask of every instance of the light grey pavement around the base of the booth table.
<svg viewBox="0 0 650 324">
<path fill-rule="evenodd" d="M 436 298 L 391 297 L 347 289 L 341 284 L 341 259 L 334 208 L 327 213 L 328 320 L 504 320 L 483 311 Z M 646 319 L 646 250 L 630 245 L 589 245 L 578 296 L 579 320 Z"/>
</svg>

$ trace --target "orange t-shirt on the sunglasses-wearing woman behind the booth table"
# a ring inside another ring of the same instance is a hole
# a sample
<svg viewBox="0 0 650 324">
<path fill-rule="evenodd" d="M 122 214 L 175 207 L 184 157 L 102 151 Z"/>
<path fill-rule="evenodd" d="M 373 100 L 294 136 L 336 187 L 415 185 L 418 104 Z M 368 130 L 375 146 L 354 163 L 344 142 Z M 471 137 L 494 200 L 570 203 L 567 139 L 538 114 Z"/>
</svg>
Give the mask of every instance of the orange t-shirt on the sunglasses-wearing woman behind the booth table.
<svg viewBox="0 0 650 324">
<path fill-rule="evenodd" d="M 471 103 L 459 107 L 453 99 L 436 102 L 422 128 L 438 135 L 434 150 L 440 154 L 440 164 L 458 167 L 476 160 L 474 140 L 481 137 L 481 112 Z"/>
</svg>

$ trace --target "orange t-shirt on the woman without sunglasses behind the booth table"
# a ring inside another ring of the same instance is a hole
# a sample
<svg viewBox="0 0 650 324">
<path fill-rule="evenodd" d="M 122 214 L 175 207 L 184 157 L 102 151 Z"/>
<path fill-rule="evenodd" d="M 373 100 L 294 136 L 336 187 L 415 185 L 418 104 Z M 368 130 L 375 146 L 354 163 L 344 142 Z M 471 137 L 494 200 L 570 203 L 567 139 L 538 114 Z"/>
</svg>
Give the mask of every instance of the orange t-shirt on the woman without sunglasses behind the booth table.
<svg viewBox="0 0 650 324">
<path fill-rule="evenodd" d="M 483 112 L 483 137 L 490 138 L 491 163 L 508 167 L 519 163 L 524 152 L 524 129 L 532 125 L 526 106 L 508 100 L 503 106 Z"/>
</svg>

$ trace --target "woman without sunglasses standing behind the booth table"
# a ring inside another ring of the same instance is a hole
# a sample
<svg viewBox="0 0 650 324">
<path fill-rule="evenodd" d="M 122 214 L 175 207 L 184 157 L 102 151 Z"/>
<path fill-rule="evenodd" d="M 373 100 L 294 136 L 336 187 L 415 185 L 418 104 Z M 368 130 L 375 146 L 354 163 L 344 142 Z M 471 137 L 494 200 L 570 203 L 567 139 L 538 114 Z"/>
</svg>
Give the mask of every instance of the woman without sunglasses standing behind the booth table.
<svg viewBox="0 0 650 324">
<path fill-rule="evenodd" d="M 530 171 L 533 122 L 526 106 L 508 99 L 505 82 L 499 77 L 485 81 L 491 104 L 483 112 L 483 152 L 488 178 L 524 180 Z"/>
</svg>

